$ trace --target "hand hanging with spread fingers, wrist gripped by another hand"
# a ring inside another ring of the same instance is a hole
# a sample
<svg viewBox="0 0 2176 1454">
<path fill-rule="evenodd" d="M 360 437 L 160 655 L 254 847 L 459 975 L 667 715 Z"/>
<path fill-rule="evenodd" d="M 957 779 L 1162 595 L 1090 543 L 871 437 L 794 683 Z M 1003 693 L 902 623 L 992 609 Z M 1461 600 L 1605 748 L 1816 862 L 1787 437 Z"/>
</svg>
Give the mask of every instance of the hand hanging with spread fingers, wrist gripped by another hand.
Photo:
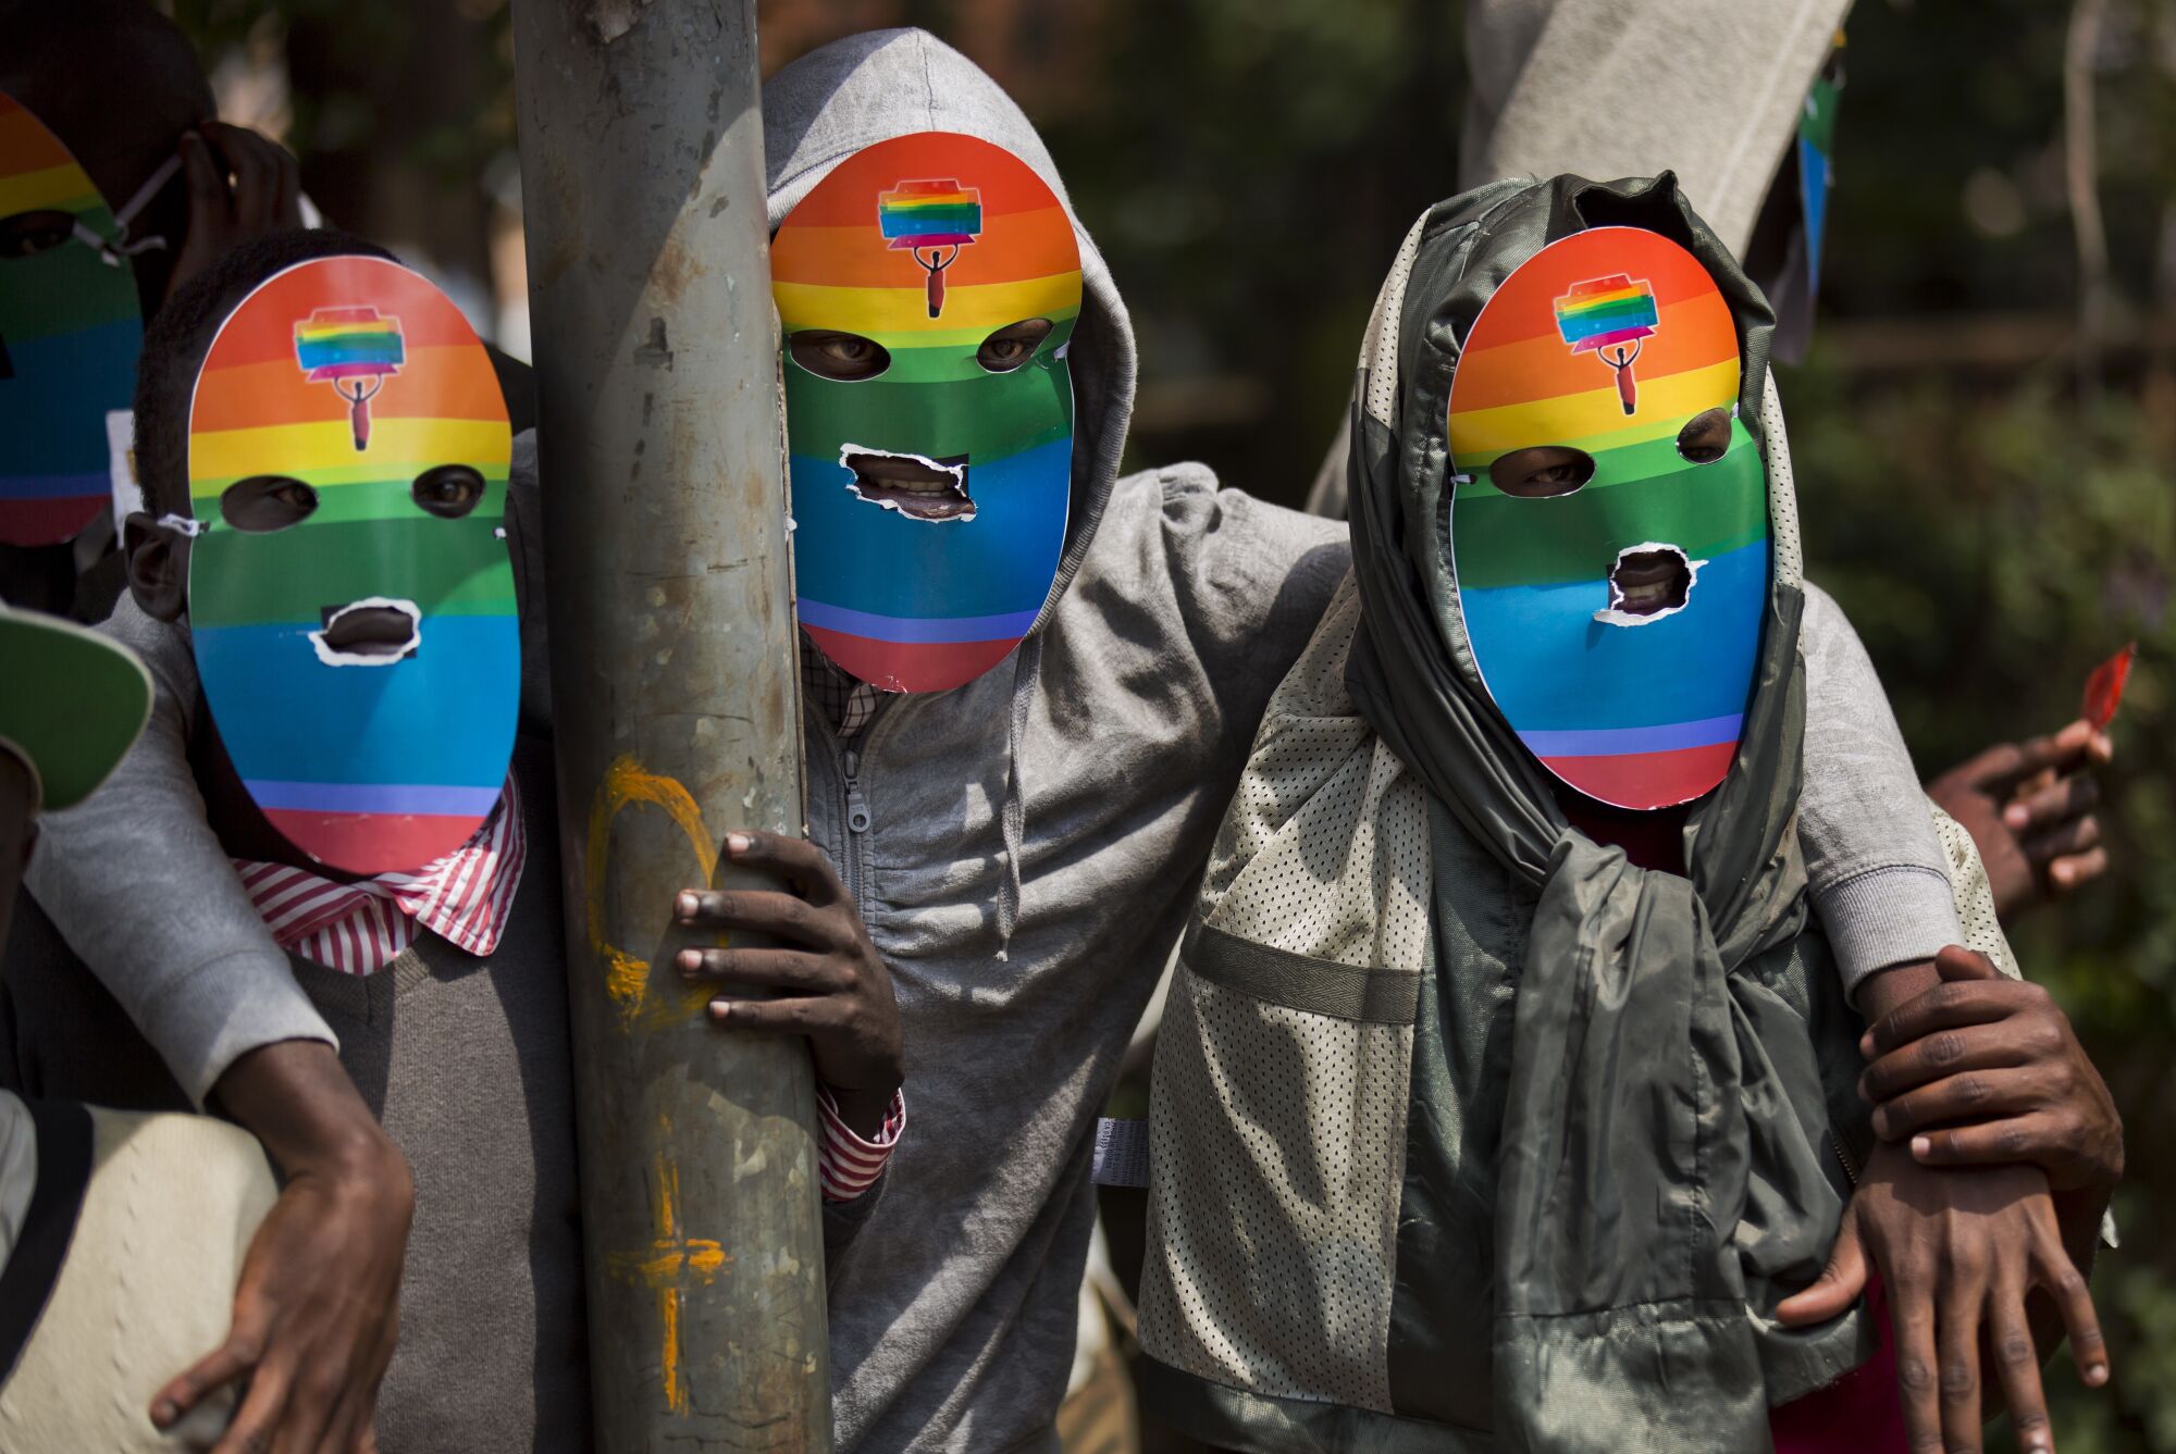
<svg viewBox="0 0 2176 1454">
<path fill-rule="evenodd" d="M 1943 999 L 1963 949 L 1884 971 L 1860 988 L 1876 1023 L 1928 997 Z M 1880 1143 L 1845 1208 L 1828 1269 L 1778 1306 L 1784 1326 L 1841 1315 L 1865 1291 L 1869 1258 L 1889 1289 L 1904 1426 L 1913 1447 L 1978 1450 L 1982 1360 L 1993 1363 L 2022 1447 L 2052 1450 L 2039 1380 L 2041 1339 L 2056 1319 L 2087 1384 L 2109 1378 L 2106 1350 L 2078 1260 L 2089 1258 L 2091 1219 L 2058 1215 L 2037 1165 L 1932 1167 L 1897 1143 Z M 2039 1306 L 2035 1306 L 2039 1304 Z M 1985 1341 L 1985 1343 L 1982 1343 Z"/>
</svg>

